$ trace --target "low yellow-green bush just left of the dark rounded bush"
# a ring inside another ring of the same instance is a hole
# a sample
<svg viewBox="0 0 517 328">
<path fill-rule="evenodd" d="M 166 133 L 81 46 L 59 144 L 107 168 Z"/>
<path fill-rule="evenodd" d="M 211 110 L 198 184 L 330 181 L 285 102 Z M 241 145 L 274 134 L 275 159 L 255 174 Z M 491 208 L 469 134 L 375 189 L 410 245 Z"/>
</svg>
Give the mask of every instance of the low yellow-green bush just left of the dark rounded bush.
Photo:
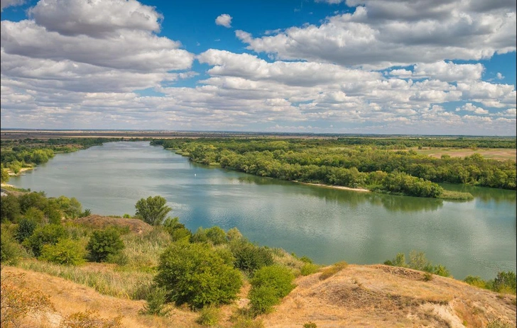
<svg viewBox="0 0 517 328">
<path fill-rule="evenodd" d="M 40 259 L 55 264 L 77 266 L 85 263 L 85 247 L 72 239 L 60 239 L 55 245 L 43 245 Z"/>
</svg>

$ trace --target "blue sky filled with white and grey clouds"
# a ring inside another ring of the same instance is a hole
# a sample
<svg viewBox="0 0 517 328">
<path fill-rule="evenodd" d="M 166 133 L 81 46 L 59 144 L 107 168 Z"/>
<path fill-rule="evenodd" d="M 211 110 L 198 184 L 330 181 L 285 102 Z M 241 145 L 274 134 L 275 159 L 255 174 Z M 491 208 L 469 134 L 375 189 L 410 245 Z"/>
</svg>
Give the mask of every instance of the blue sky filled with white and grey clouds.
<svg viewBox="0 0 517 328">
<path fill-rule="evenodd" d="M 1 128 L 516 135 L 515 0 L 1 0 Z"/>
</svg>

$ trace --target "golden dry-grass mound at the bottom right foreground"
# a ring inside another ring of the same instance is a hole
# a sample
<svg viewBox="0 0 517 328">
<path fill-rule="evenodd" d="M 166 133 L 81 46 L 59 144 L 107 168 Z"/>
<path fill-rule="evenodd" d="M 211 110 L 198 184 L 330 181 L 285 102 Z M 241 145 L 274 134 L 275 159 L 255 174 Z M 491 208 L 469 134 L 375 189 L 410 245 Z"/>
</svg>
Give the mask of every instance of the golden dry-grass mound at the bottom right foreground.
<svg viewBox="0 0 517 328">
<path fill-rule="evenodd" d="M 349 265 L 321 281 L 300 276 L 265 327 L 486 327 L 502 317 L 516 324 L 515 296 L 472 287 L 452 278 L 383 265 Z"/>
</svg>

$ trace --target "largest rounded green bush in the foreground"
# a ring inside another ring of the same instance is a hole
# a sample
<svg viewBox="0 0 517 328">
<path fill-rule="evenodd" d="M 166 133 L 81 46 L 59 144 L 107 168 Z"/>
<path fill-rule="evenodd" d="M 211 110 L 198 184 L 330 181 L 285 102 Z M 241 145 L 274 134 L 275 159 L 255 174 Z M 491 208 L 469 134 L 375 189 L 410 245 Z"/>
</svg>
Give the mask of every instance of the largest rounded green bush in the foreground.
<svg viewBox="0 0 517 328">
<path fill-rule="evenodd" d="M 236 298 L 242 285 L 232 268 L 208 244 L 175 242 L 160 255 L 156 283 L 177 305 L 219 305 Z"/>
</svg>

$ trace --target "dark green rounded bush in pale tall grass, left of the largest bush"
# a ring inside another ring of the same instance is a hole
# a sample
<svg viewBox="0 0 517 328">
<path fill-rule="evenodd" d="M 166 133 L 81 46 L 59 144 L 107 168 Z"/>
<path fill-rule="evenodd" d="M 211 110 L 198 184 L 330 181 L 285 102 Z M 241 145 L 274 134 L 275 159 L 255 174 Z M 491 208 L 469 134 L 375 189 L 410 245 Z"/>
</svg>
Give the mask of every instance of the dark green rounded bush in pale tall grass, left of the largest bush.
<svg viewBox="0 0 517 328">
<path fill-rule="evenodd" d="M 94 231 L 86 248 L 94 261 L 103 262 L 109 255 L 118 254 L 124 249 L 124 242 L 120 238 L 119 231 L 109 227 Z"/>
</svg>

